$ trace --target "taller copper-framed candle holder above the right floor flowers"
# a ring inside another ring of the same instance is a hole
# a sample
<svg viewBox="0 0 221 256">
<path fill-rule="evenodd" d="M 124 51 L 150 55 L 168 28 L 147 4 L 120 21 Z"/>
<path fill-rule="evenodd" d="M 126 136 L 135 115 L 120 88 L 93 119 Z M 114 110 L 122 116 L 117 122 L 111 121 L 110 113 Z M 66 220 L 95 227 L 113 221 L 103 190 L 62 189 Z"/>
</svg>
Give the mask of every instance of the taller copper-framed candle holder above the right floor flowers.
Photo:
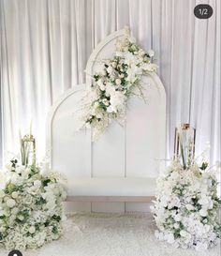
<svg viewBox="0 0 221 256">
<path fill-rule="evenodd" d="M 184 169 L 189 166 L 195 155 L 196 128 L 182 124 L 175 128 L 174 158 L 182 158 Z"/>
</svg>

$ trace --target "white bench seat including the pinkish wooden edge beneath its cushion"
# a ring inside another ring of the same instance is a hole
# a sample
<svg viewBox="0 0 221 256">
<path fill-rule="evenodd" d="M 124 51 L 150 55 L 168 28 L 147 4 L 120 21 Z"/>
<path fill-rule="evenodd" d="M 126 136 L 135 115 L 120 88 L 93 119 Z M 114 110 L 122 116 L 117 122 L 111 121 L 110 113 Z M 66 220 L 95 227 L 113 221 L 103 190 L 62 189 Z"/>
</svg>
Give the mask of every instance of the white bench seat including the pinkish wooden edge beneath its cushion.
<svg viewBox="0 0 221 256">
<path fill-rule="evenodd" d="M 150 202 L 155 178 L 75 178 L 68 187 L 72 202 Z"/>
</svg>

